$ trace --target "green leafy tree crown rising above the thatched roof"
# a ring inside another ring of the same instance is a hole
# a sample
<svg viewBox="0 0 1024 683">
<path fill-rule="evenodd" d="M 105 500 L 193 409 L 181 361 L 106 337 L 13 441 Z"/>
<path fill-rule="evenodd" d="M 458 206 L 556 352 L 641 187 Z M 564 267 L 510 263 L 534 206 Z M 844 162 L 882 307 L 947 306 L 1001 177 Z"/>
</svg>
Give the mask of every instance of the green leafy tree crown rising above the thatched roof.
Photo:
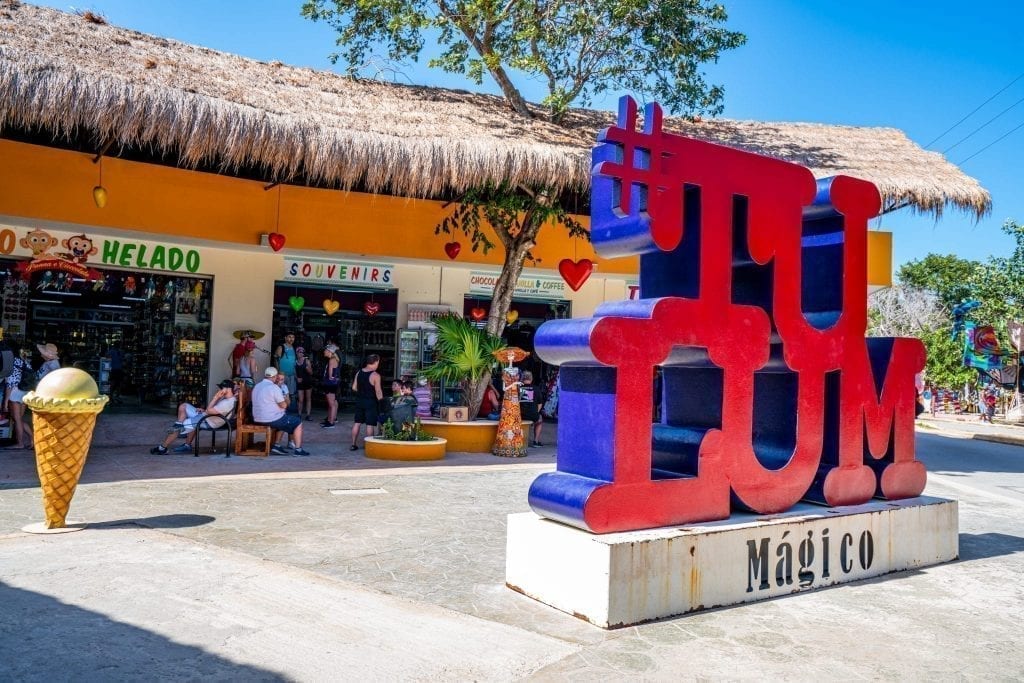
<svg viewBox="0 0 1024 683">
<path fill-rule="evenodd" d="M 746 41 L 710 0 L 306 0 L 302 14 L 338 31 L 332 59 L 352 75 L 378 45 L 392 61 L 415 61 L 429 39 L 440 50 L 430 67 L 476 84 L 489 75 L 521 116 L 530 111 L 513 76 L 543 83 L 555 122 L 609 89 L 718 115 L 723 89 L 701 67 Z"/>
</svg>

